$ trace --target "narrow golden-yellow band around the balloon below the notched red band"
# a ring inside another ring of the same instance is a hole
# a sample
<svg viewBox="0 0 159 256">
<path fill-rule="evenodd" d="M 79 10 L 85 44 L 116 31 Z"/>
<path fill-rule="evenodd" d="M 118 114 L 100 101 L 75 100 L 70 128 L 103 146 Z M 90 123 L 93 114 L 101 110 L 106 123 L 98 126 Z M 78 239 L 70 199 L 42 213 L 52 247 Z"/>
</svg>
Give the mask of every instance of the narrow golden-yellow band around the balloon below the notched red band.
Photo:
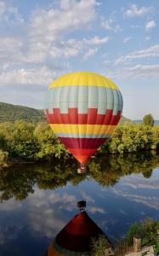
<svg viewBox="0 0 159 256">
<path fill-rule="evenodd" d="M 111 134 L 116 128 L 115 125 L 65 125 L 50 124 L 54 133 L 72 134 Z"/>
</svg>

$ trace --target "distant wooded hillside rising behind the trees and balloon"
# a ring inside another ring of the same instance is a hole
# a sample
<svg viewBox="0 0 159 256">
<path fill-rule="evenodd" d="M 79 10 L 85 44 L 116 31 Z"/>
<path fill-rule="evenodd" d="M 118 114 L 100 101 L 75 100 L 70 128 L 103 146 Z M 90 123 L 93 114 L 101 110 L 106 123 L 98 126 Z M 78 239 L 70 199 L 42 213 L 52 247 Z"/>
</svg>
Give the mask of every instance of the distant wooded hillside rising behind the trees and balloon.
<svg viewBox="0 0 159 256">
<path fill-rule="evenodd" d="M 43 110 L 0 102 L 0 123 L 18 119 L 26 122 L 46 121 Z M 120 124 L 128 121 L 131 120 L 122 117 Z"/>
</svg>

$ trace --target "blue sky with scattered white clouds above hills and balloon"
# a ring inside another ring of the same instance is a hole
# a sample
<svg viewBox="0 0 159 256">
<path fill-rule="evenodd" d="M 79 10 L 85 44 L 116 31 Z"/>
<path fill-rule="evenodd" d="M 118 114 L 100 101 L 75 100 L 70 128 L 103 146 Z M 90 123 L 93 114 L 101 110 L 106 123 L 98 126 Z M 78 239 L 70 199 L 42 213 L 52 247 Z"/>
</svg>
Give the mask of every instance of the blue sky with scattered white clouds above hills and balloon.
<svg viewBox="0 0 159 256">
<path fill-rule="evenodd" d="M 43 109 L 76 71 L 112 79 L 125 117 L 159 119 L 159 1 L 0 0 L 0 102 Z"/>
</svg>

